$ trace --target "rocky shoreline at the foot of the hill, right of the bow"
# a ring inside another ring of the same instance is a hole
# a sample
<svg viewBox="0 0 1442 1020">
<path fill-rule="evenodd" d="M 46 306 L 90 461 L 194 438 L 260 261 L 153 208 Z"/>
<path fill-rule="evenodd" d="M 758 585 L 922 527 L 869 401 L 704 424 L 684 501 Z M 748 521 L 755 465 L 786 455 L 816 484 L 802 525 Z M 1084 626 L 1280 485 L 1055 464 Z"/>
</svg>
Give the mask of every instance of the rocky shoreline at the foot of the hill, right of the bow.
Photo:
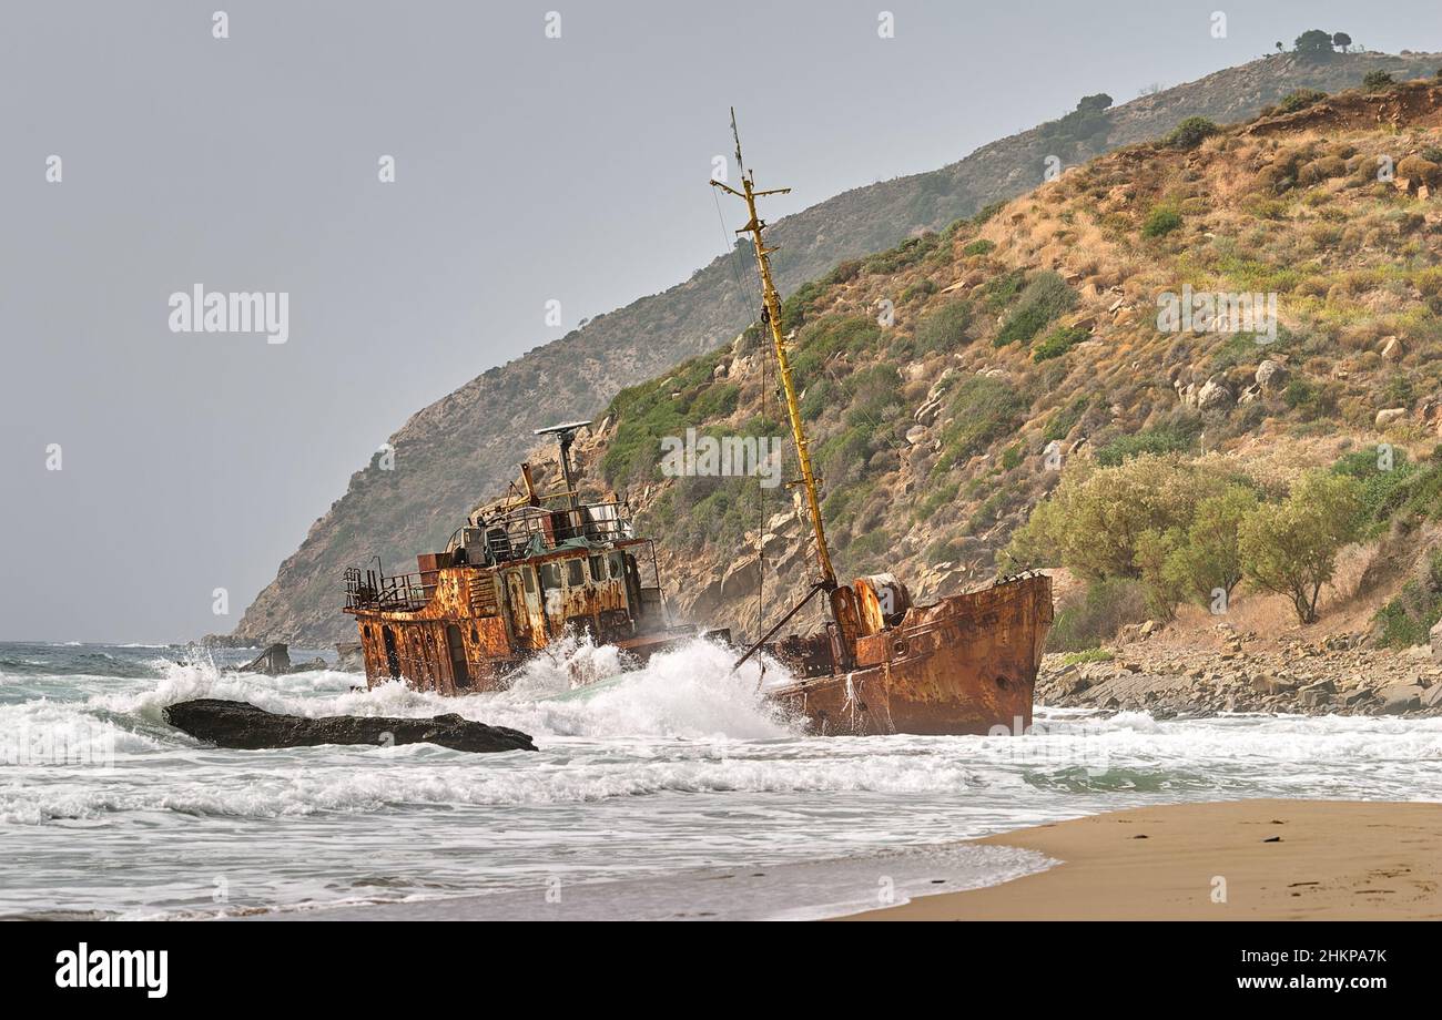
<svg viewBox="0 0 1442 1020">
<path fill-rule="evenodd" d="M 1217 631 L 1218 648 L 1138 634 L 1090 660 L 1048 654 L 1037 703 L 1158 719 L 1218 712 L 1442 716 L 1442 657 L 1426 645 L 1390 651 L 1353 634 L 1273 643 L 1226 624 Z"/>
</svg>

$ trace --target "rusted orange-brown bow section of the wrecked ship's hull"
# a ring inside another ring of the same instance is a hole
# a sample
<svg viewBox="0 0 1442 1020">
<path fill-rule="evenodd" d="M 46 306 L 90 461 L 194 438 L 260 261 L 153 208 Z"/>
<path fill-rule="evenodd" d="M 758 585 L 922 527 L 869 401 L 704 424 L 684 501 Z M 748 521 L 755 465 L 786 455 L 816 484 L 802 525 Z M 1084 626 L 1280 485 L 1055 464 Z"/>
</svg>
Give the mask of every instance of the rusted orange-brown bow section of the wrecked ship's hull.
<svg viewBox="0 0 1442 1020">
<path fill-rule="evenodd" d="M 854 670 L 797 680 L 769 697 L 822 735 L 1019 733 L 1031 726 L 1051 618 L 1044 575 L 952 595 L 861 638 Z"/>
</svg>

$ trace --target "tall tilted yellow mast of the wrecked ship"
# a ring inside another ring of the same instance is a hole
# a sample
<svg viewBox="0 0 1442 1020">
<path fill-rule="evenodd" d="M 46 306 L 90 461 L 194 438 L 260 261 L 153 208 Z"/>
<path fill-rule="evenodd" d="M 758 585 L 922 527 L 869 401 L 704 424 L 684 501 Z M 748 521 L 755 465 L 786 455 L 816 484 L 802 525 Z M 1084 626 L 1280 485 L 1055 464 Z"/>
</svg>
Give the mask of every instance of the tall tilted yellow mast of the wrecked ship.
<svg viewBox="0 0 1442 1020">
<path fill-rule="evenodd" d="M 756 248 L 756 268 L 761 277 L 761 324 L 770 330 L 771 346 L 776 350 L 777 375 L 782 377 L 782 389 L 786 393 L 786 416 L 790 421 L 792 442 L 796 445 L 796 460 L 802 470 L 800 486 L 806 493 L 806 509 L 810 511 L 812 537 L 816 546 L 816 565 L 820 571 L 820 576 L 812 586 L 810 595 L 815 595 L 819 591 L 828 594 L 832 618 L 836 621 L 836 627 L 839 628 L 841 641 L 838 643 L 838 653 L 839 658 L 845 663 L 851 658 L 851 645 L 855 635 L 855 607 L 851 598 L 848 598 L 851 595 L 851 589 L 838 586 L 836 571 L 831 563 L 831 549 L 826 545 L 826 526 L 820 517 L 820 498 L 816 494 L 816 471 L 812 467 L 810 444 L 806 439 L 806 429 L 802 424 L 800 402 L 796 399 L 796 385 L 792 380 L 792 363 L 786 353 L 786 337 L 782 336 L 782 298 L 776 292 L 776 282 L 771 278 L 770 256 L 776 249 L 766 246 L 766 241 L 761 238 L 761 232 L 766 229 L 766 222 L 756 212 L 757 199 L 763 199 L 769 194 L 789 194 L 792 189 L 773 187 L 764 192 L 756 190 L 756 173 L 748 173 L 746 170 L 746 164 L 741 161 L 741 135 L 735 127 L 734 107 L 731 108 L 731 137 L 735 138 L 735 164 L 741 174 L 741 190 L 731 187 L 725 182 L 715 180 L 714 177 L 711 184 L 746 202 L 748 219 L 746 226 L 738 229 L 737 233 L 750 233 L 751 243 Z M 810 595 L 806 596 L 806 601 L 810 599 Z M 800 605 L 805 605 L 805 601 Z M 800 609 L 800 605 L 786 614 L 782 624 L 790 619 L 796 609 Z M 777 628 L 782 624 L 777 624 Z M 771 632 L 774 634 L 774 631 L 776 628 L 773 628 Z M 770 634 L 767 638 L 769 637 Z M 767 638 L 763 638 L 763 641 Z M 757 647 L 758 645 L 760 643 L 757 643 Z M 756 648 L 751 648 L 746 657 L 750 657 L 753 651 L 756 651 Z M 746 657 L 743 657 L 741 661 L 744 661 Z"/>
</svg>

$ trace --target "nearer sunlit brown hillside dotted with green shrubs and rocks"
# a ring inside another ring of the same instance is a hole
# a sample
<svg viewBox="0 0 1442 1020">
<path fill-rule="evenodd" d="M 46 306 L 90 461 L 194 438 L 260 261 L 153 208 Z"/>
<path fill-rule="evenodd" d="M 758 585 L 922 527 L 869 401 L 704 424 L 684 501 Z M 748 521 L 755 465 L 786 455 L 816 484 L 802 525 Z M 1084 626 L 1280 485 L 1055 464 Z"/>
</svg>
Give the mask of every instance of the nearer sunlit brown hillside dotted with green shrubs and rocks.
<svg viewBox="0 0 1442 1020">
<path fill-rule="evenodd" d="M 999 566 L 1069 566 L 1102 585 L 1110 622 L 1139 622 L 1156 607 L 1113 605 L 1146 594 L 1138 536 L 1118 533 L 1129 507 L 1216 477 L 1246 480 L 1262 516 L 1280 517 L 1282 496 L 1322 468 L 1357 480 L 1348 498 L 1366 513 L 1360 566 L 1324 586 L 1324 618 L 1426 638 L 1442 605 L 1442 555 L 1428 552 L 1442 517 L 1442 81 L 1285 105 L 1099 157 L 786 301 L 844 576 L 891 571 L 929 598 Z M 1393 180 L 1379 180 L 1384 163 Z M 1257 294 L 1259 308 L 1275 295 L 1275 334 L 1174 328 L 1159 298 L 1185 288 Z M 588 483 L 627 494 L 659 540 L 676 608 L 743 634 L 812 578 L 796 506 L 756 478 L 672 478 L 658 461 L 688 428 L 786 435 L 769 366 L 751 327 L 622 392 L 581 449 Z M 1034 519 L 1011 549 L 1021 562 L 1001 559 L 1064 480 L 1093 475 L 1086 530 Z M 1080 582 L 1058 589 L 1061 647 L 1094 644 Z M 1260 632 L 1286 630 L 1276 596 L 1239 592 Z"/>
</svg>

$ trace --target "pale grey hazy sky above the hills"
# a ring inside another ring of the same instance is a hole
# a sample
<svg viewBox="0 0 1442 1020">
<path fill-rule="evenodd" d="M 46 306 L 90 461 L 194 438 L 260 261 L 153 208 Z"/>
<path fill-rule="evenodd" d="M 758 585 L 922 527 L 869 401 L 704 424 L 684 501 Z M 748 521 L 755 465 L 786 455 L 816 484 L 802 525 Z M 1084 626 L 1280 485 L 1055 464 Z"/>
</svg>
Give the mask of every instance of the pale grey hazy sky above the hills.
<svg viewBox="0 0 1442 1020">
<path fill-rule="evenodd" d="M 748 163 L 796 189 L 774 218 L 1304 29 L 1442 49 L 1436 0 L 6 0 L 0 19 L 0 640 L 229 631 L 412 412 L 721 251 L 707 177 L 731 104 Z M 288 294 L 287 343 L 172 331 L 196 284 Z"/>
</svg>

